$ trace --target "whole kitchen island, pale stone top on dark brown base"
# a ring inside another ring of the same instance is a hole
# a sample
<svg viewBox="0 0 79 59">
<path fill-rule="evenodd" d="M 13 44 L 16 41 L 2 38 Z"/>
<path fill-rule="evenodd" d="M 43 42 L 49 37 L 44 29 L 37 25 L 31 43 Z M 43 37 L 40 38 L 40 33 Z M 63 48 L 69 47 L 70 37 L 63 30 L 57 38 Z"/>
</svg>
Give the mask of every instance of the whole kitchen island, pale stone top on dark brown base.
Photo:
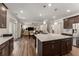
<svg viewBox="0 0 79 59">
<path fill-rule="evenodd" d="M 39 56 L 61 56 L 72 50 L 72 36 L 61 34 L 38 34 L 36 37 L 36 53 Z"/>
</svg>

